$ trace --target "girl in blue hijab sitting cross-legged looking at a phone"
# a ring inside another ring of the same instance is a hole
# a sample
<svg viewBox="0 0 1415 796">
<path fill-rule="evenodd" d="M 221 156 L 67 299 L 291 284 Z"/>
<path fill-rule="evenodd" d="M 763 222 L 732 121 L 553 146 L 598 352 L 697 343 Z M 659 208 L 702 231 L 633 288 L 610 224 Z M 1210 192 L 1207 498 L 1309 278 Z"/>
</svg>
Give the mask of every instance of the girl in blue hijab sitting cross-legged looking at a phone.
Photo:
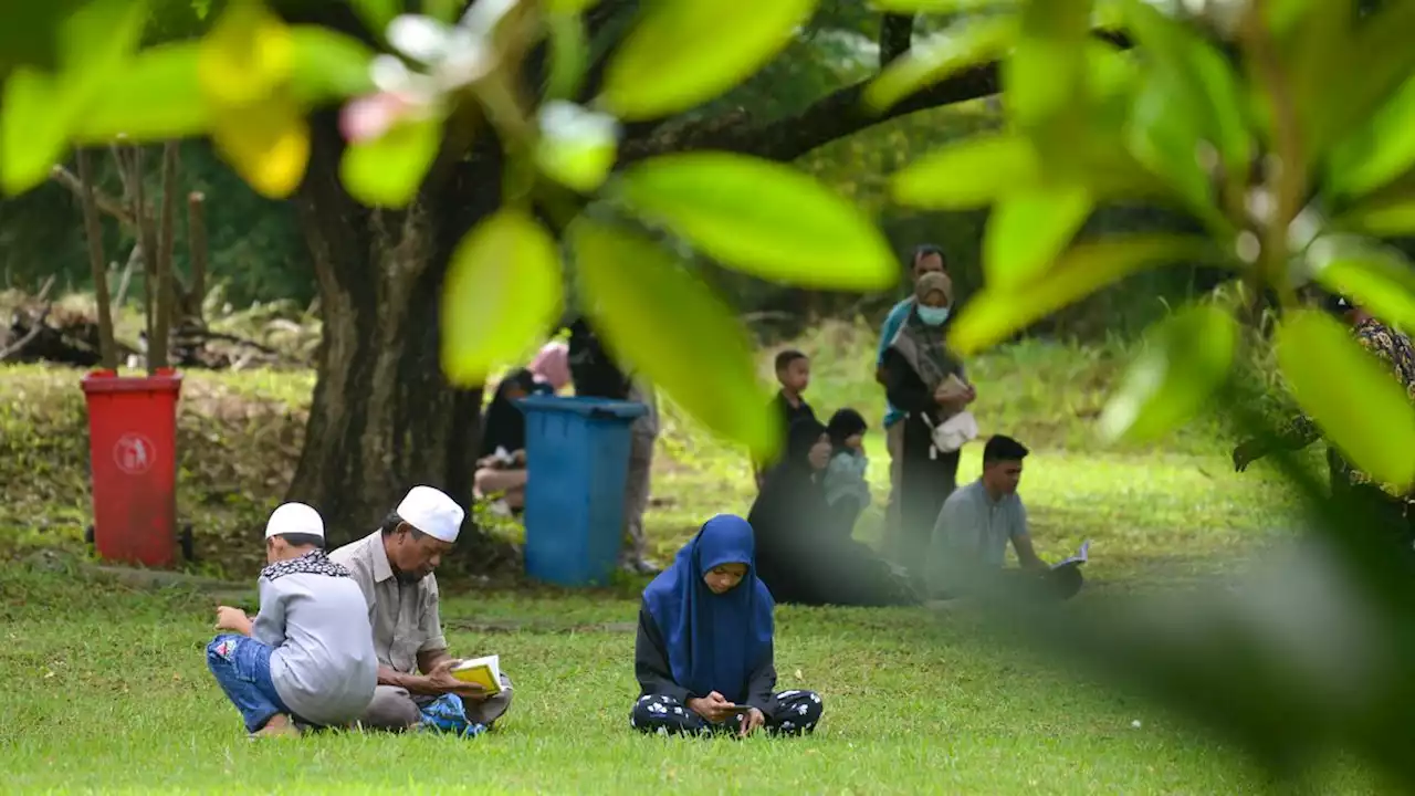
<svg viewBox="0 0 1415 796">
<path fill-rule="evenodd" d="M 771 592 L 757 578 L 751 525 L 719 514 L 644 589 L 634 644 L 641 732 L 758 728 L 799 735 L 821 721 L 814 691 L 773 693 Z"/>
</svg>

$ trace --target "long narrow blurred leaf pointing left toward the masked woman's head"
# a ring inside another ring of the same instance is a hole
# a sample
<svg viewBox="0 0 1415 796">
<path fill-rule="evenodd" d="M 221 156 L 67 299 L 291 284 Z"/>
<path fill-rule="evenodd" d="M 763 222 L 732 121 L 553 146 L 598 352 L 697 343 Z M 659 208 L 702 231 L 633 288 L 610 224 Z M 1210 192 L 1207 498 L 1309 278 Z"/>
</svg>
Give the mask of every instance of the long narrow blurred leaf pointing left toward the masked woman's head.
<svg viewBox="0 0 1415 796">
<path fill-rule="evenodd" d="M 968 356 L 1002 343 L 1047 314 L 1145 268 L 1213 259 L 1213 245 L 1190 235 L 1129 234 L 1077 244 L 1026 288 L 986 288 L 964 303 L 948 333 L 948 344 Z"/>
</svg>

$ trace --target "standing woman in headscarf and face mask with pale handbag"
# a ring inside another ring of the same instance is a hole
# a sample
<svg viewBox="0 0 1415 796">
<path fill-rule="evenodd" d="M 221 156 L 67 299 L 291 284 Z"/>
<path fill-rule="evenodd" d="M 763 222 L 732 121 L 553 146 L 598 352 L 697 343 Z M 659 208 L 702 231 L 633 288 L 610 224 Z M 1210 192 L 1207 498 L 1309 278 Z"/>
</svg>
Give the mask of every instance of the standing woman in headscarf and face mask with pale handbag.
<svg viewBox="0 0 1415 796">
<path fill-rule="evenodd" d="M 923 576 L 928 542 L 944 500 L 958 484 L 958 450 L 934 445 L 934 428 L 976 398 L 962 363 L 944 346 L 952 282 L 925 273 L 914 286 L 914 309 L 884 351 L 889 402 L 906 412 L 900 469 L 901 558 Z"/>
</svg>

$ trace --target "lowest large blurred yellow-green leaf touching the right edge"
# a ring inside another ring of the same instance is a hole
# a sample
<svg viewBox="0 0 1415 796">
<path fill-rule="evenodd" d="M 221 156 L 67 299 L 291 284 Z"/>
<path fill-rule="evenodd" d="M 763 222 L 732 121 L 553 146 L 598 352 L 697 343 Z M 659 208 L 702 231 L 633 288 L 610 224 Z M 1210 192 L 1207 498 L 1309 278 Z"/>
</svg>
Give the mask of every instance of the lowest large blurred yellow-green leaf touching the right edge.
<svg viewBox="0 0 1415 796">
<path fill-rule="evenodd" d="M 1329 443 L 1371 477 L 1415 482 L 1415 406 L 1388 363 L 1337 320 L 1298 310 L 1278 326 L 1278 365 Z"/>
</svg>

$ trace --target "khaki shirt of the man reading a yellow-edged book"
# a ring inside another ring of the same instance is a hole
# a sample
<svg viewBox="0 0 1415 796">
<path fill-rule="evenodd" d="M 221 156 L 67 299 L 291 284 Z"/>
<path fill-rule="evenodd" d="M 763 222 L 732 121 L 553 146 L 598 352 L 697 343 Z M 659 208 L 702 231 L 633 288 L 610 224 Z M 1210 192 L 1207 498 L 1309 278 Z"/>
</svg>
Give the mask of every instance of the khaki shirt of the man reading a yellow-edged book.
<svg viewBox="0 0 1415 796">
<path fill-rule="evenodd" d="M 400 584 L 388 564 L 382 531 L 335 550 L 330 558 L 347 567 L 364 591 L 374 618 L 374 650 L 379 664 L 415 674 L 417 653 L 447 649 L 437 613 L 436 575 Z"/>
</svg>

